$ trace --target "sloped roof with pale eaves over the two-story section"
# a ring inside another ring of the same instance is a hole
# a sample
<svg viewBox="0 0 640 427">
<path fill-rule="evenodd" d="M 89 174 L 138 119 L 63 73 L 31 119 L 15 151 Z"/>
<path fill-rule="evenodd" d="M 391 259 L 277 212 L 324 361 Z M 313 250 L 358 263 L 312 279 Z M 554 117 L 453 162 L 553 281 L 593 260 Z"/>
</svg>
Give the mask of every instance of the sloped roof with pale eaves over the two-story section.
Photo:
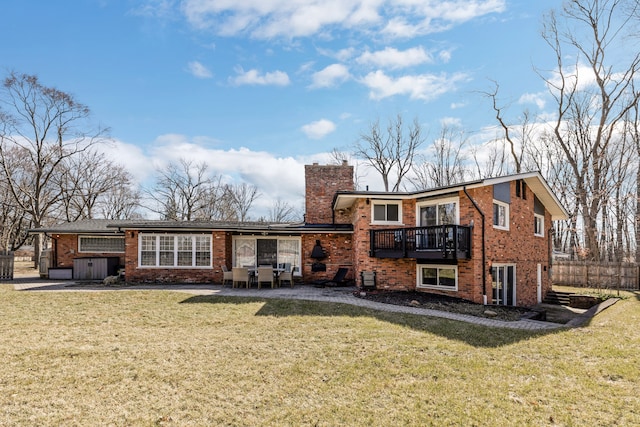
<svg viewBox="0 0 640 427">
<path fill-rule="evenodd" d="M 445 187 L 433 188 L 430 190 L 414 192 L 375 192 L 375 191 L 340 191 L 334 198 L 334 209 L 347 209 L 353 205 L 357 199 L 371 198 L 384 200 L 406 200 L 419 199 L 422 197 L 444 196 L 446 194 L 457 193 L 464 189 L 486 187 L 489 185 L 501 184 L 521 179 L 538 197 L 545 209 L 551 214 L 552 220 L 567 219 L 567 213 L 562 203 L 558 200 L 549 184 L 544 180 L 540 172 L 526 172 L 514 175 L 505 175 L 497 178 L 487 178 L 475 181 L 463 182 L 460 184 Z"/>
</svg>

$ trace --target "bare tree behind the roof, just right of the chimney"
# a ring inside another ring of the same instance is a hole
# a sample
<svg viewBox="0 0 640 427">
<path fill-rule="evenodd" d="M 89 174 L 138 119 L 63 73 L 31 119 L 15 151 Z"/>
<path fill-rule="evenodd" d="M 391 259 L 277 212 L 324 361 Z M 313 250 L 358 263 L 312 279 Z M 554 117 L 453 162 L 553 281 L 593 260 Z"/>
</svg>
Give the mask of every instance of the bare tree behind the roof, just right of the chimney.
<svg viewBox="0 0 640 427">
<path fill-rule="evenodd" d="M 366 133 L 360 134 L 355 146 L 355 156 L 365 160 L 382 178 L 384 190 L 400 191 L 403 178 L 413 166 L 416 150 L 423 144 L 424 136 L 418 119 L 406 129 L 402 116 L 390 120 L 386 133 L 380 129 L 380 121 L 373 123 Z"/>
</svg>

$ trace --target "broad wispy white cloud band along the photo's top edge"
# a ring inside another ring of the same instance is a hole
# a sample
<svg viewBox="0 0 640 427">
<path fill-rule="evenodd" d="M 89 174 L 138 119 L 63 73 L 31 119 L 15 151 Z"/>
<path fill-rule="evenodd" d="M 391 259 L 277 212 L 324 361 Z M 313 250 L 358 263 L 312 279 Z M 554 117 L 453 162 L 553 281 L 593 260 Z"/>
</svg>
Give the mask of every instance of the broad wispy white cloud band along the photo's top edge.
<svg viewBox="0 0 640 427">
<path fill-rule="evenodd" d="M 195 28 L 224 36 L 310 37 L 332 30 L 413 37 L 443 31 L 479 16 L 501 13 L 505 0 L 185 0 Z"/>
</svg>

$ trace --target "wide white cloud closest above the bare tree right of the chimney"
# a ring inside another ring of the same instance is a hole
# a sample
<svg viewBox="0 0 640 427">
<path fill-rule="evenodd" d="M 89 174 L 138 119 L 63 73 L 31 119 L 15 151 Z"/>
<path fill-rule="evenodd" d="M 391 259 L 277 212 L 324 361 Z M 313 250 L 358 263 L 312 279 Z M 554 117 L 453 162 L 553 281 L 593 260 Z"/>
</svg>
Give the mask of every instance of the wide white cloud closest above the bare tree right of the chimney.
<svg viewBox="0 0 640 427">
<path fill-rule="evenodd" d="M 384 99 L 394 95 L 408 95 L 411 99 L 431 101 L 442 94 L 454 91 L 459 82 L 468 80 L 464 73 L 419 74 L 398 78 L 382 71 L 367 74 L 362 83 L 369 88 L 371 99 Z"/>
</svg>

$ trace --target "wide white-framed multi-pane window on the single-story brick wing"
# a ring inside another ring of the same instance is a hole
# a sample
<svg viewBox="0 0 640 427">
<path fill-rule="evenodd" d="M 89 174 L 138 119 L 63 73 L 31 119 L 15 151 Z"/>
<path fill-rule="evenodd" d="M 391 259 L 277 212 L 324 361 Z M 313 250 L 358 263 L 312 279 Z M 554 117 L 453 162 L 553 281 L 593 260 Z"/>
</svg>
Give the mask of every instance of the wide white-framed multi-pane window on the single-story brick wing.
<svg viewBox="0 0 640 427">
<path fill-rule="evenodd" d="M 138 248 L 140 267 L 211 268 L 209 235 L 141 233 Z"/>
</svg>

